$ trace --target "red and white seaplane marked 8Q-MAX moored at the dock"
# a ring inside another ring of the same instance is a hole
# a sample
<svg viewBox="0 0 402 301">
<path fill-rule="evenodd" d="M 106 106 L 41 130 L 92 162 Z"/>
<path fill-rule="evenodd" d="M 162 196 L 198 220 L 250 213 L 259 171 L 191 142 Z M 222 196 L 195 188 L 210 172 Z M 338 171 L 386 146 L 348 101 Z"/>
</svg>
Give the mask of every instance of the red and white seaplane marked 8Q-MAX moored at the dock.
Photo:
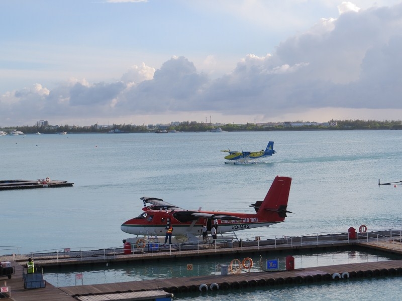
<svg viewBox="0 0 402 301">
<path fill-rule="evenodd" d="M 286 217 L 291 178 L 277 176 L 263 201 L 250 207 L 253 213 L 234 213 L 186 210 L 162 199 L 142 197 L 144 211 L 139 216 L 124 222 L 122 231 L 143 236 L 165 236 L 169 226 L 173 226 L 173 236 L 185 235 L 187 242 L 197 241 L 203 225 L 211 230 L 212 220 L 218 221 L 218 234 L 270 226 L 283 222 Z M 147 206 L 147 204 L 150 204 Z M 230 202 L 227 202 L 230 208 Z M 124 240 L 125 241 L 125 240 Z"/>
</svg>

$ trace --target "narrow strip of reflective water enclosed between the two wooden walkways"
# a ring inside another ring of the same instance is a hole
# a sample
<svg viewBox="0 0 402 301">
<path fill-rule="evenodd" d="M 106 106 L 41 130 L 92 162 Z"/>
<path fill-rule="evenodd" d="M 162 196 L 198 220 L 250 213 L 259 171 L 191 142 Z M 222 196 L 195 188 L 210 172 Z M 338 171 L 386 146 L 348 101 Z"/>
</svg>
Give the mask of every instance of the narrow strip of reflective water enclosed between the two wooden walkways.
<svg viewBox="0 0 402 301">
<path fill-rule="evenodd" d="M 285 268 L 285 257 L 289 253 L 267 252 L 261 254 L 263 265 L 266 259 L 279 259 L 279 269 Z M 324 265 L 370 262 L 393 259 L 384 257 L 376 253 L 367 253 L 359 250 L 323 252 L 317 253 L 298 253 L 291 254 L 294 257 L 296 268 L 306 268 Z M 244 254 L 241 258 L 250 257 L 254 264 L 252 271 L 260 270 L 260 256 L 255 254 Z M 149 260 L 148 262 L 129 262 L 126 264 L 105 263 L 104 266 L 95 266 L 85 269 L 81 268 L 63 268 L 62 270 L 52 270 L 45 268 L 45 280 L 55 286 L 76 285 L 75 274 L 83 274 L 84 284 L 100 284 L 125 281 L 140 281 L 147 279 L 161 279 L 171 277 L 201 276 L 220 274 L 220 264 L 229 264 L 235 257 L 227 255 L 222 257 L 205 258 L 182 258 L 171 260 Z M 187 264 L 192 264 L 193 269 L 187 270 Z M 82 284 L 81 280 L 77 285 Z"/>
</svg>

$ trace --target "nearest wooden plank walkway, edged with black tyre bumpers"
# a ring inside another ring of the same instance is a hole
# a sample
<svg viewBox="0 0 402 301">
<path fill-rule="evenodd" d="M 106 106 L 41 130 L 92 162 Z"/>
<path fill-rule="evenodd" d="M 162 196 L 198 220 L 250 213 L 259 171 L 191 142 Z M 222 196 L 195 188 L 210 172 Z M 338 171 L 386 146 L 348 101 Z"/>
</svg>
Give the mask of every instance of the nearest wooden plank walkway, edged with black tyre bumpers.
<svg viewBox="0 0 402 301">
<path fill-rule="evenodd" d="M 349 274 L 361 271 L 361 277 L 368 276 L 364 273 L 366 271 L 371 271 L 371 277 L 385 276 L 381 270 L 395 268 L 395 276 L 397 269 L 400 268 L 400 274 L 402 275 L 402 260 L 389 260 L 389 261 L 376 261 L 376 262 L 363 262 L 363 263 L 351 263 L 351 264 L 340 264 L 331 266 L 319 266 L 312 268 L 296 269 L 292 271 L 276 271 L 276 272 L 252 272 L 233 275 L 208 275 L 208 276 L 194 276 L 194 277 L 176 277 L 168 279 L 153 279 L 144 281 L 130 281 L 121 283 L 106 283 L 106 284 L 93 284 L 93 285 L 83 285 L 83 286 L 68 286 L 60 287 L 65 293 L 70 295 L 84 295 L 88 293 L 99 294 L 99 293 L 110 293 L 115 291 L 136 291 L 141 289 L 153 290 L 153 289 L 163 289 L 165 291 L 179 293 L 181 289 L 186 291 L 190 289 L 191 286 L 198 288 L 201 284 L 206 284 L 210 286 L 212 283 L 217 283 L 220 287 L 229 288 L 241 288 L 250 286 L 273 286 L 273 285 L 286 285 L 286 284 L 302 284 L 309 283 L 308 276 L 321 275 L 321 281 L 325 279 L 327 281 L 332 281 L 332 275 L 334 273 L 342 274 L 348 272 Z M 378 275 L 375 275 L 374 271 L 379 271 Z M 329 275 L 329 278 L 328 278 Z M 390 273 L 386 274 L 390 276 Z M 300 277 L 302 279 L 300 283 L 296 282 L 296 278 Z M 327 278 L 325 278 L 327 277 Z M 291 283 L 290 282 L 290 278 Z M 261 281 L 263 279 L 263 281 Z M 317 280 L 317 279 L 316 279 Z M 320 282 L 321 282 L 320 281 Z M 342 281 L 342 280 L 340 280 Z M 314 278 L 311 278 L 311 282 L 317 282 Z M 264 283 L 261 285 L 261 283 Z"/>
</svg>

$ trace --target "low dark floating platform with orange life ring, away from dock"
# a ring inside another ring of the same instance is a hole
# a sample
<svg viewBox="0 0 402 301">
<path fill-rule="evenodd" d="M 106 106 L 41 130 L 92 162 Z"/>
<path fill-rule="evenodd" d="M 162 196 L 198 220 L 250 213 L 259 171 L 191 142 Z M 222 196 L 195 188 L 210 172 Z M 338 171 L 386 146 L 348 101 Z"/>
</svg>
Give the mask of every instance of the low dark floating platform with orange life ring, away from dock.
<svg viewBox="0 0 402 301">
<path fill-rule="evenodd" d="M 73 184 L 67 181 L 50 180 L 49 178 L 38 180 L 0 180 L 0 190 L 72 187 Z"/>
</svg>

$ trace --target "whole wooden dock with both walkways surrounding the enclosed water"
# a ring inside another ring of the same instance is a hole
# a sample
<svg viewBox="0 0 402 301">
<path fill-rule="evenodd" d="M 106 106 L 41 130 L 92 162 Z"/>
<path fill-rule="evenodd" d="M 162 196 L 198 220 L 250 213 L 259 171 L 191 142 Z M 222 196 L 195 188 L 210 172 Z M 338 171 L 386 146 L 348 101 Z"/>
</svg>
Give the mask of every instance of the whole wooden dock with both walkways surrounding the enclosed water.
<svg viewBox="0 0 402 301">
<path fill-rule="evenodd" d="M 120 252 L 116 250 L 93 250 L 87 251 L 87 257 L 74 257 L 75 253 L 60 254 L 34 254 L 36 266 L 54 266 L 62 268 L 66 265 L 87 265 L 105 264 L 108 262 L 129 262 L 135 260 L 186 258 L 195 256 L 208 256 L 214 254 L 233 254 L 234 258 L 243 258 L 243 253 L 260 254 L 266 251 L 287 251 L 297 252 L 298 249 L 309 249 L 320 251 L 330 250 L 339 247 L 368 248 L 382 250 L 392 254 L 402 254 L 402 243 L 397 235 L 389 234 L 385 237 L 384 232 L 371 232 L 359 234 L 357 239 L 350 240 L 347 234 L 317 235 L 312 237 L 293 237 L 289 241 L 248 241 L 242 245 L 234 245 L 229 248 L 200 249 L 200 250 L 159 250 L 154 253 L 124 254 L 123 248 Z M 95 255 L 95 256 L 93 256 Z M 129 281 L 120 283 L 105 283 L 92 285 L 79 285 L 67 287 L 54 287 L 47 283 L 45 288 L 24 289 L 22 281 L 22 264 L 25 264 L 30 255 L 0 256 L 0 261 L 13 261 L 16 274 L 12 279 L 6 279 L 7 285 L 12 287 L 10 300 L 15 301 L 36 301 L 36 300 L 103 300 L 102 296 L 110 300 L 133 300 L 129 293 L 141 291 L 164 291 L 166 293 L 180 294 L 184 292 L 197 292 L 203 290 L 227 290 L 243 289 L 246 287 L 269 287 L 300 285 L 328 281 L 345 281 L 347 279 L 372 278 L 372 277 L 395 277 L 402 276 L 402 260 L 385 260 L 364 263 L 340 264 L 332 266 L 319 266 L 281 271 L 253 271 L 240 274 L 204 275 L 193 277 L 175 277 L 152 279 L 144 281 Z M 0 283 L 3 278 L 0 279 Z M 0 285 L 1 286 L 1 285 Z M 90 297 L 93 296 L 93 297 Z M 97 298 L 95 296 L 98 296 Z"/>
</svg>

